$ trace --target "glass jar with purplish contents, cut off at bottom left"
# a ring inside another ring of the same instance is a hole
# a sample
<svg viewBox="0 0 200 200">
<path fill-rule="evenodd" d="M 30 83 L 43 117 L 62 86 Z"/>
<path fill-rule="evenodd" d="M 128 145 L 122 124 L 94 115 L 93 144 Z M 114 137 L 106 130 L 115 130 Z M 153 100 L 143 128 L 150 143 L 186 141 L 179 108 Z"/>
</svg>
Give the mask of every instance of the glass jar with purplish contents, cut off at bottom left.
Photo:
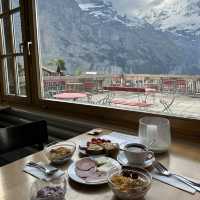
<svg viewBox="0 0 200 200">
<path fill-rule="evenodd" d="M 31 186 L 30 200 L 65 200 L 65 175 L 51 181 L 36 180 Z"/>
</svg>

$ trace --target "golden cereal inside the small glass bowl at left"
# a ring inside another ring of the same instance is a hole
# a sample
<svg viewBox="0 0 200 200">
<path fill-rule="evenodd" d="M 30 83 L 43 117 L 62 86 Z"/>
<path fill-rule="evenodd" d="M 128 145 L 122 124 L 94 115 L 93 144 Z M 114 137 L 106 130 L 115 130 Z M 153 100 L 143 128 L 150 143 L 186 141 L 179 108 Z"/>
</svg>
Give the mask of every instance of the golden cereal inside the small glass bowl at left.
<svg viewBox="0 0 200 200">
<path fill-rule="evenodd" d="M 53 148 L 49 151 L 49 159 L 51 161 L 63 159 L 72 154 L 72 150 L 67 147 Z"/>
</svg>

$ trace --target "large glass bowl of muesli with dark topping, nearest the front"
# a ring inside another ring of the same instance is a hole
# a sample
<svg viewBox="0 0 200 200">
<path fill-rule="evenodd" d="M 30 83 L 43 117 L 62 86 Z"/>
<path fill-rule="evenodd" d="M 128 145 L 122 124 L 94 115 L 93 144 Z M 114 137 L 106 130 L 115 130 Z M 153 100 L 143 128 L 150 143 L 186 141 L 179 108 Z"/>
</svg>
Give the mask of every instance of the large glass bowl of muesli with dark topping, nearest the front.
<svg viewBox="0 0 200 200">
<path fill-rule="evenodd" d="M 108 183 L 113 193 L 120 199 L 143 198 L 151 188 L 150 173 L 141 168 L 112 169 L 108 172 Z"/>
</svg>

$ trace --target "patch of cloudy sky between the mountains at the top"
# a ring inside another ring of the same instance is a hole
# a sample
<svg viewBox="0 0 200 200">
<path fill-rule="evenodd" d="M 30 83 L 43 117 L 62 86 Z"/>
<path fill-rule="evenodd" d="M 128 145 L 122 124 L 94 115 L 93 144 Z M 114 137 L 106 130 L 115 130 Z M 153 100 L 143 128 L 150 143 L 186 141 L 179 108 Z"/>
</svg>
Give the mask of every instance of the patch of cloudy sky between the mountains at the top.
<svg viewBox="0 0 200 200">
<path fill-rule="evenodd" d="M 134 15 L 138 9 L 148 9 L 164 0 L 110 0 L 113 7 L 122 14 Z"/>
</svg>

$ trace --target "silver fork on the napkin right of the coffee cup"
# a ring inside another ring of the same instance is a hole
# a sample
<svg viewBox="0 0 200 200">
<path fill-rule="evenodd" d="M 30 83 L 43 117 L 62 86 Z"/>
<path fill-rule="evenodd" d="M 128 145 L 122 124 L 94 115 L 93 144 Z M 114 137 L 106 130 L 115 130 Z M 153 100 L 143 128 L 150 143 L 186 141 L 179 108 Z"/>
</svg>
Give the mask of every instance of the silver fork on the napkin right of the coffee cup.
<svg viewBox="0 0 200 200">
<path fill-rule="evenodd" d="M 174 176 L 181 182 L 187 184 L 188 186 L 192 187 L 193 189 L 200 192 L 200 183 L 194 182 L 192 180 L 189 180 L 185 178 L 184 176 L 177 175 L 175 173 L 170 172 L 163 164 L 161 164 L 158 161 L 154 161 L 153 166 L 158 170 L 158 172 L 164 176 Z"/>
</svg>

